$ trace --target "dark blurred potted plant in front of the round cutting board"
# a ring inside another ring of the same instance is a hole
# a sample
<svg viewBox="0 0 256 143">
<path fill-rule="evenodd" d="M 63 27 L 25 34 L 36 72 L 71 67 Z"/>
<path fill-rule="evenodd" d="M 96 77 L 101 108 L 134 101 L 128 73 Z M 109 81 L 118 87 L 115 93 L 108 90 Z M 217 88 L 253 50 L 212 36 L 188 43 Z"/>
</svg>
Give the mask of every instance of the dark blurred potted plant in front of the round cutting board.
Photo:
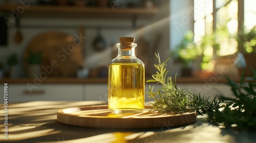
<svg viewBox="0 0 256 143">
<path fill-rule="evenodd" d="M 35 53 L 29 49 L 28 58 L 26 59 L 28 63 L 28 77 L 39 76 L 41 72 L 41 56 L 42 52 Z"/>
</svg>

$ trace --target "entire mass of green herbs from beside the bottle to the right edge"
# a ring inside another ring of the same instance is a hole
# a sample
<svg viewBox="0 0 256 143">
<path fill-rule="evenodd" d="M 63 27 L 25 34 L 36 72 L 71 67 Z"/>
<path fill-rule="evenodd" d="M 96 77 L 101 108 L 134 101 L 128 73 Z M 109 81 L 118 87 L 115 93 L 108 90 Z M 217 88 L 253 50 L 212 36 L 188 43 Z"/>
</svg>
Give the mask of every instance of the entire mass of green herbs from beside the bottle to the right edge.
<svg viewBox="0 0 256 143">
<path fill-rule="evenodd" d="M 176 84 L 176 76 L 174 82 L 172 77 L 167 77 L 166 62 L 161 63 L 159 54 L 155 54 L 158 64 L 155 75 L 151 80 L 146 82 L 157 82 L 162 85 L 161 88 L 153 91 L 153 87 L 149 86 L 147 93 L 149 98 L 154 99 L 151 103 L 153 109 L 162 113 L 184 113 L 190 110 L 196 110 L 199 115 L 207 114 L 208 121 L 224 127 L 236 127 L 239 129 L 255 130 L 256 129 L 256 84 L 243 83 L 244 75 L 242 75 L 240 84 L 227 78 L 228 85 L 234 94 L 234 98 L 226 98 L 220 96 L 209 101 L 209 98 L 202 97 L 201 94 L 194 94 L 189 89 L 180 89 Z M 256 80 L 256 71 L 254 72 L 254 80 Z"/>
</svg>

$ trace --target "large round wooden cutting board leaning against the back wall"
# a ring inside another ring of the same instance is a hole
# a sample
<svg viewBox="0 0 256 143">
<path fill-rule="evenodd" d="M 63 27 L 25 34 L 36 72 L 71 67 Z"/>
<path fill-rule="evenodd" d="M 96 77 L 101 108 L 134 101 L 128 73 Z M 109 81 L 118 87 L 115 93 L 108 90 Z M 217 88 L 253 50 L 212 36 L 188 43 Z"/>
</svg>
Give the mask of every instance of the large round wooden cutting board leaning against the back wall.
<svg viewBox="0 0 256 143">
<path fill-rule="evenodd" d="M 74 42 L 75 41 L 75 42 Z M 79 43 L 79 44 L 76 44 Z M 75 77 L 77 69 L 83 63 L 83 44 L 77 38 L 58 31 L 48 31 L 34 37 L 27 45 L 24 59 L 28 58 L 29 50 L 42 52 L 41 71 L 50 77 Z M 53 61 L 57 67 L 52 67 Z M 28 63 L 24 62 L 27 69 Z"/>
</svg>

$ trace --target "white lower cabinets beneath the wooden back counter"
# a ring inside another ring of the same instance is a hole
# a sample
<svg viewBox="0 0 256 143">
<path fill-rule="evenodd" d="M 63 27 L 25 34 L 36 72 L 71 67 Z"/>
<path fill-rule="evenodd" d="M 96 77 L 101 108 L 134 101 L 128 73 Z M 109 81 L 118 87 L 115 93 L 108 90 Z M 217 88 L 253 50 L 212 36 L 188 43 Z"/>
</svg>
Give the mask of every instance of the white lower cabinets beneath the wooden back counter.
<svg viewBox="0 0 256 143">
<path fill-rule="evenodd" d="M 148 98 L 146 93 L 148 86 L 154 86 L 154 91 L 161 87 L 161 84 L 146 83 L 145 84 L 145 102 L 153 101 Z M 207 83 L 182 83 L 177 84 L 181 89 L 189 89 L 193 93 L 201 92 L 202 96 L 214 98 L 217 94 L 222 93 L 224 96 L 230 97 L 232 92 L 230 87 L 225 84 L 210 85 Z M 4 83 L 0 85 L 0 93 L 4 94 Z M 211 98 L 211 99 L 212 99 Z M 8 101 L 29 102 L 29 101 L 105 101 L 108 102 L 108 84 L 41 84 L 34 88 L 32 92 L 25 83 L 8 84 Z M 0 98 L 0 104 L 4 103 L 4 96 Z"/>
</svg>

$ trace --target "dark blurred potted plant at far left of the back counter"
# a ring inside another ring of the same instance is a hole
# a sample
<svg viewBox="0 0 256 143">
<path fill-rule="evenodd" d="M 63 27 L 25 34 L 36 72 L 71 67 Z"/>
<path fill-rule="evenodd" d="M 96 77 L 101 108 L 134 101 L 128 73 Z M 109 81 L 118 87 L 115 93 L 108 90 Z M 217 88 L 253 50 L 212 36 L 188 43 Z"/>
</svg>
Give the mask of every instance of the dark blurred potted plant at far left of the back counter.
<svg viewBox="0 0 256 143">
<path fill-rule="evenodd" d="M 7 60 L 9 65 L 9 77 L 10 78 L 17 78 L 17 65 L 18 65 L 18 58 L 15 53 L 13 53 Z"/>
</svg>

